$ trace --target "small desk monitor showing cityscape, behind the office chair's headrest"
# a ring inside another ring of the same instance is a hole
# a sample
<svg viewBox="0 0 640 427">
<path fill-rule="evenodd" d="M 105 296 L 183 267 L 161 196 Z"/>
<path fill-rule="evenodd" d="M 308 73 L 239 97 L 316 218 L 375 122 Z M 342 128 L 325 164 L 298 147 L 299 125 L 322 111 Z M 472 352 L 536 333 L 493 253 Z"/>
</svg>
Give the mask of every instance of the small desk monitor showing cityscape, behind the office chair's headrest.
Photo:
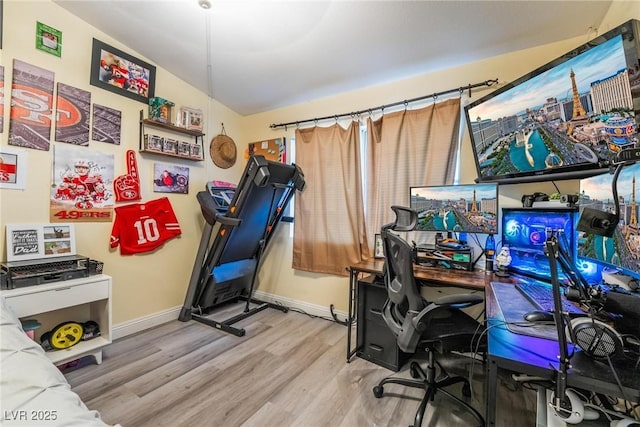
<svg viewBox="0 0 640 427">
<path fill-rule="evenodd" d="M 417 231 L 498 232 L 495 183 L 411 187 L 410 207 L 418 213 Z"/>
</svg>

